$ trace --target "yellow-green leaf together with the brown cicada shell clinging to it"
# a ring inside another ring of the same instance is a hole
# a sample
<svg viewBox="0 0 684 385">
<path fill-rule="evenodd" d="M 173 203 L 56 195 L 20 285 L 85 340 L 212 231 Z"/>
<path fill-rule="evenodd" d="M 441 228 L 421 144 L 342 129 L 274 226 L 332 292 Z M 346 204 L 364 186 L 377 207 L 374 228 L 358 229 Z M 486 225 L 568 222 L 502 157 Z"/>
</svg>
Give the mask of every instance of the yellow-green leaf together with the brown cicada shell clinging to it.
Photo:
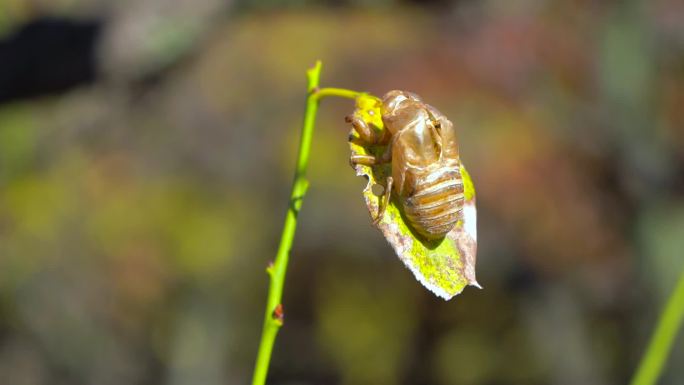
<svg viewBox="0 0 684 385">
<path fill-rule="evenodd" d="M 368 178 L 373 224 L 416 278 L 450 299 L 475 279 L 475 189 L 454 125 L 416 94 L 363 94 L 351 123 L 351 164 Z M 383 186 L 374 193 L 373 187 Z"/>
</svg>

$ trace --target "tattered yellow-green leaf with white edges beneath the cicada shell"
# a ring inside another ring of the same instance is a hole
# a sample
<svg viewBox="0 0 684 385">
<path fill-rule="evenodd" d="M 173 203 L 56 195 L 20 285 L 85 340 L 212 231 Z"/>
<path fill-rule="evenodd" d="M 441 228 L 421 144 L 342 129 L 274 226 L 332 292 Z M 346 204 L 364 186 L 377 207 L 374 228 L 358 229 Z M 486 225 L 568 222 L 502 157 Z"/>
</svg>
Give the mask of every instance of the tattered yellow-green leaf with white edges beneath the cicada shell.
<svg viewBox="0 0 684 385">
<path fill-rule="evenodd" d="M 382 102 L 375 96 L 362 95 L 356 100 L 354 115 L 363 119 L 375 130 L 383 130 Z M 366 146 L 352 129 L 350 148 L 353 155 L 379 155 L 380 146 Z M 386 187 L 391 175 L 391 164 L 375 166 L 355 165 L 356 174 L 368 179 L 363 197 L 371 218 L 379 212 L 383 194 L 373 192 L 373 186 Z M 480 287 L 475 279 L 477 251 L 475 188 L 470 175 L 461 165 L 465 203 L 463 220 L 437 241 L 426 241 L 405 221 L 401 203 L 392 194 L 383 217 L 375 225 L 385 236 L 399 259 L 413 272 L 416 279 L 437 296 L 446 300 L 468 286 Z M 376 189 L 377 192 L 378 189 Z"/>
</svg>

